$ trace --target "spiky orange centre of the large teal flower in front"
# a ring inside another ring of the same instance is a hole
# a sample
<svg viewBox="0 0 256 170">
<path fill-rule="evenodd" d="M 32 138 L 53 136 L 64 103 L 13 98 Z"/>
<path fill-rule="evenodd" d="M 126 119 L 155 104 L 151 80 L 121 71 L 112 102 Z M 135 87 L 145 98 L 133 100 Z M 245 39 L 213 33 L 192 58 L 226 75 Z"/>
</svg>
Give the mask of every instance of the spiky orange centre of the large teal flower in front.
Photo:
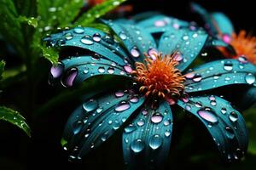
<svg viewBox="0 0 256 170">
<path fill-rule="evenodd" d="M 179 96 L 184 89 L 185 77 L 176 68 L 178 61 L 172 55 L 155 55 L 154 59 L 145 54 L 145 63 L 136 63 L 136 71 L 133 71 L 137 82 L 142 86 L 139 88 L 145 96 L 158 96 L 168 98 Z"/>
</svg>

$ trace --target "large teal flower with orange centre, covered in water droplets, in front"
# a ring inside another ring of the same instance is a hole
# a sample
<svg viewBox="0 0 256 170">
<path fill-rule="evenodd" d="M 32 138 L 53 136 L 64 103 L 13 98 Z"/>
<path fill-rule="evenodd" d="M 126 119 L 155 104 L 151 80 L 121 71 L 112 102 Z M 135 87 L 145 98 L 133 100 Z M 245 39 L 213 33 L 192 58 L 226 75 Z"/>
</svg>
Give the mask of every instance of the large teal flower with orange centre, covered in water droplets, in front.
<svg viewBox="0 0 256 170">
<path fill-rule="evenodd" d="M 44 39 L 50 47 L 71 52 L 52 67 L 52 83 L 73 87 L 92 77 L 109 75 L 129 80 L 119 82 L 123 85 L 120 89 L 109 90 L 108 84 L 103 84 L 104 92 L 88 96 L 73 111 L 61 140 L 70 159 L 81 159 L 125 126 L 125 165 L 131 169 L 160 168 L 172 139 L 172 105 L 202 122 L 225 161 L 244 155 L 247 128 L 241 114 L 225 99 L 204 92 L 233 84 L 253 86 L 255 65 L 221 59 L 188 69 L 209 41 L 208 35 L 165 15 L 102 22 L 119 38 L 94 28 L 76 27 Z"/>
</svg>

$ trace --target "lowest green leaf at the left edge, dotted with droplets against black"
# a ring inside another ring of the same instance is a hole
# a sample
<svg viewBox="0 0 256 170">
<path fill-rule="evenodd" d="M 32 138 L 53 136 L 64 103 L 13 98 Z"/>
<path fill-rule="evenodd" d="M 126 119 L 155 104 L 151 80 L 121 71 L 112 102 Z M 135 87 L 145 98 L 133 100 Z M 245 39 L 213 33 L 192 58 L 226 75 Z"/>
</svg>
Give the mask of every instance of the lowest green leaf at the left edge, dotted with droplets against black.
<svg viewBox="0 0 256 170">
<path fill-rule="evenodd" d="M 20 127 L 29 137 L 31 137 L 31 129 L 26 124 L 26 120 L 18 111 L 13 111 L 7 107 L 0 106 L 0 120 L 10 122 Z"/>
</svg>

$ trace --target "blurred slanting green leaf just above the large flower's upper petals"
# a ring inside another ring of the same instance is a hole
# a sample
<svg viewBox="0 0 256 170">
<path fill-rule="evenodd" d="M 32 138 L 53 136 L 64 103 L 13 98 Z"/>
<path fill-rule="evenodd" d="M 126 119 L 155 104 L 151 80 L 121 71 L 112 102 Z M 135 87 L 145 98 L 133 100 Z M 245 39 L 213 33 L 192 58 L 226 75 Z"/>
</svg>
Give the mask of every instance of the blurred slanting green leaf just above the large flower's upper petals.
<svg viewBox="0 0 256 170">
<path fill-rule="evenodd" d="M 125 1 L 126 0 L 108 0 L 104 3 L 98 4 L 93 8 L 90 8 L 88 12 L 79 17 L 79 20 L 77 20 L 74 24 L 75 26 L 87 26 Z"/>
</svg>

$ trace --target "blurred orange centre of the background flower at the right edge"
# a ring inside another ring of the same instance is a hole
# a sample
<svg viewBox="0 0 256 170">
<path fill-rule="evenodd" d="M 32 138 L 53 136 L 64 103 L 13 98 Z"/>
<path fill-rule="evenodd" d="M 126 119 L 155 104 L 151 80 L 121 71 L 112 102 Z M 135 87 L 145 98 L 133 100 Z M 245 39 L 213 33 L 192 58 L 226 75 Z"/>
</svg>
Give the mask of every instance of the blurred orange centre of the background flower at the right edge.
<svg viewBox="0 0 256 170">
<path fill-rule="evenodd" d="M 245 56 L 250 62 L 256 64 L 256 37 L 247 34 L 246 31 L 233 33 L 230 45 L 235 49 L 236 55 L 231 55 L 225 48 L 219 48 L 225 57 L 236 59 Z"/>
</svg>

